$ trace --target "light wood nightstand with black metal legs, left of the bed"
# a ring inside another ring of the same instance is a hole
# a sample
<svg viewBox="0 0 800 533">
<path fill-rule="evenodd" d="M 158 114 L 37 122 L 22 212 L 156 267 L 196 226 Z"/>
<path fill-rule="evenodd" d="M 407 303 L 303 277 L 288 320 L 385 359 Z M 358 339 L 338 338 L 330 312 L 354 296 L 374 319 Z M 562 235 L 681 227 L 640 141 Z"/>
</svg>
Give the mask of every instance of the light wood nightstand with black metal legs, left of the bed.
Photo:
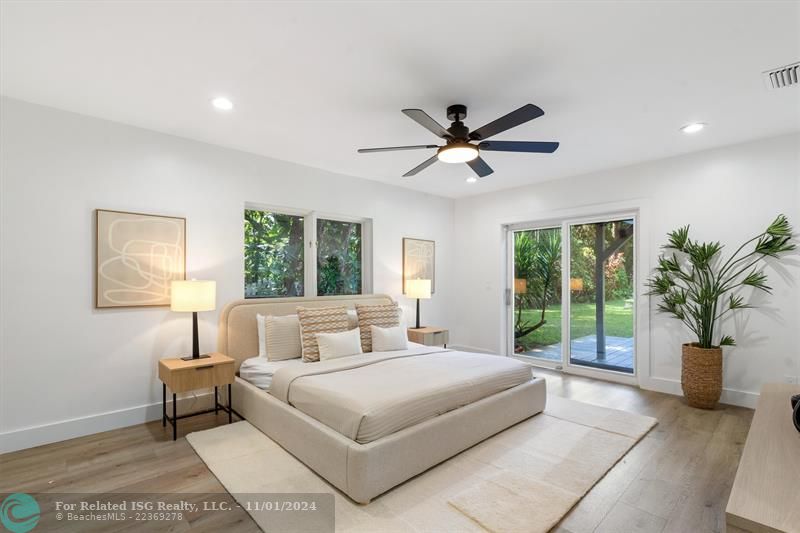
<svg viewBox="0 0 800 533">
<path fill-rule="evenodd" d="M 233 421 L 233 403 L 231 402 L 231 383 L 234 380 L 233 359 L 221 353 L 209 354 L 205 359 L 161 359 L 158 362 L 158 378 L 162 381 L 161 425 L 166 427 L 167 422 L 172 424 L 172 440 L 178 438 L 178 419 L 205 413 L 219 413 L 219 410 L 228 413 L 228 423 Z M 228 405 L 219 403 L 218 388 L 228 386 Z M 167 416 L 167 387 L 172 391 L 172 417 Z M 208 389 L 214 387 L 214 407 L 177 415 L 176 394 L 195 389 Z"/>
</svg>

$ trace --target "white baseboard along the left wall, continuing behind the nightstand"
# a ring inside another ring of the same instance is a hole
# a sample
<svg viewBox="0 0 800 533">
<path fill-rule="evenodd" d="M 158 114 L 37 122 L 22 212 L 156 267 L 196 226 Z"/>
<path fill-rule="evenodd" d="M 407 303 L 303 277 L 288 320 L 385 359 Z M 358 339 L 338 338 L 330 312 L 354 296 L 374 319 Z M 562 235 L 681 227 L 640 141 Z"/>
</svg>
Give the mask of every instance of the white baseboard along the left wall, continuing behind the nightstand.
<svg viewBox="0 0 800 533">
<path fill-rule="evenodd" d="M 213 406 L 213 397 L 212 393 L 207 392 L 196 396 L 179 398 L 178 413 L 208 409 Z M 224 398 L 222 391 L 220 391 L 220 397 L 221 401 L 226 401 L 222 399 Z M 167 409 L 171 409 L 170 403 L 167 404 Z M 34 446 L 74 439 L 112 429 L 144 424 L 160 418 L 161 402 L 158 402 L 62 420 L 51 424 L 15 429 L 0 433 L 0 453 L 24 450 Z"/>
</svg>

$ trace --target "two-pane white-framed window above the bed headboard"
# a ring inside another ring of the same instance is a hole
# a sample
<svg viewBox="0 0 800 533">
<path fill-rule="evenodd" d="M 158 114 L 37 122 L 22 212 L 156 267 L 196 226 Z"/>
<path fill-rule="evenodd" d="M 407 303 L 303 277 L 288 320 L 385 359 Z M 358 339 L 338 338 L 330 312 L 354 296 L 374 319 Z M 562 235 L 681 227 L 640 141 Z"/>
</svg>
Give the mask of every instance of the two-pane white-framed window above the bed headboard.
<svg viewBox="0 0 800 533">
<path fill-rule="evenodd" d="M 370 292 L 370 229 L 368 219 L 246 208 L 245 298 Z"/>
</svg>

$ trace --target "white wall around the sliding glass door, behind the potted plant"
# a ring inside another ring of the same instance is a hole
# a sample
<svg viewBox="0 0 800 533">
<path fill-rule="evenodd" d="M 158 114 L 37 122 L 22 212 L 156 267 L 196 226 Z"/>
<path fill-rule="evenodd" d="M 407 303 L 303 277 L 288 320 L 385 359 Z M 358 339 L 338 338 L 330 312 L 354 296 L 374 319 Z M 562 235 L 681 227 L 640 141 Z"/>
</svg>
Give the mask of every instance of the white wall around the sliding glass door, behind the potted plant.
<svg viewBox="0 0 800 533">
<path fill-rule="evenodd" d="M 778 213 L 800 230 L 799 159 L 795 134 L 457 200 L 452 337 L 460 345 L 505 351 L 503 223 L 628 202 L 643 206 L 639 244 L 651 265 L 666 233 L 684 224 L 691 224 L 694 238 L 720 240 L 732 252 Z M 800 256 L 784 265 L 767 270 L 775 291 L 759 298 L 761 309 L 726 324 L 739 343 L 725 350 L 726 401 L 752 405 L 763 383 L 800 374 Z M 640 383 L 679 393 L 680 344 L 689 335 L 654 313 L 651 300 L 644 309 L 650 353 L 640 354 L 649 357 L 650 372 Z"/>
</svg>

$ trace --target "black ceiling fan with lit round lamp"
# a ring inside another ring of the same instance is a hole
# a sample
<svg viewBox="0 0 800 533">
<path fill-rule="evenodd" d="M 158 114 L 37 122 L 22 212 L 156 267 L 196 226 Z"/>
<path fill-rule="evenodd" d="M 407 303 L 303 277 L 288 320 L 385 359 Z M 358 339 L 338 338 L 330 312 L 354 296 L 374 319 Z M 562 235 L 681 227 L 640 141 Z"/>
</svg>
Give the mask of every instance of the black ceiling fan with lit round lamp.
<svg viewBox="0 0 800 533">
<path fill-rule="evenodd" d="M 453 122 L 447 129 L 421 109 L 403 109 L 403 113 L 437 137 L 444 139 L 446 144 L 444 146 L 438 146 L 436 144 L 418 144 L 414 146 L 389 146 L 386 148 L 361 148 L 358 150 L 358 153 L 370 154 L 373 152 L 437 148 L 435 155 L 403 174 L 404 178 L 418 174 L 434 164 L 437 160 L 445 163 L 466 163 L 475 171 L 478 177 L 483 178 L 494 172 L 494 170 L 480 157 L 480 152 L 482 151 L 552 154 L 558 148 L 557 142 L 486 140 L 498 133 L 510 130 L 529 120 L 544 115 L 544 111 L 533 104 L 525 104 L 516 111 L 512 111 L 473 131 L 469 131 L 469 128 L 462 122 L 462 120 L 467 117 L 467 106 L 461 104 L 451 105 L 447 108 L 447 119 Z M 474 144 L 474 142 L 471 141 L 477 141 L 478 144 Z"/>
</svg>

